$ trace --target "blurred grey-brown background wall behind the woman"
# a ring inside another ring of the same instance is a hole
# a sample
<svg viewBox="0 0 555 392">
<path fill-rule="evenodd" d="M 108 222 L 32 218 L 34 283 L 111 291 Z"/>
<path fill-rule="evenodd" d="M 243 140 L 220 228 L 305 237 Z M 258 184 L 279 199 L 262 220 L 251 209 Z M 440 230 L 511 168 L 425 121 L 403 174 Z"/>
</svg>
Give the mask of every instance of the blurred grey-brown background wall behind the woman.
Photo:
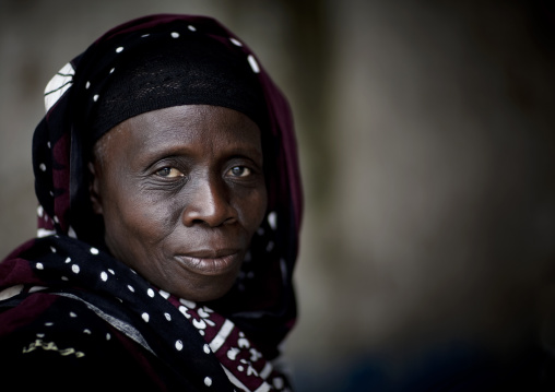
<svg viewBox="0 0 555 392">
<path fill-rule="evenodd" d="M 2 258 L 35 234 L 46 83 L 108 28 L 162 12 L 223 22 L 293 106 L 306 214 L 284 353 L 298 391 L 415 391 L 555 347 L 544 0 L 0 0 Z"/>
</svg>

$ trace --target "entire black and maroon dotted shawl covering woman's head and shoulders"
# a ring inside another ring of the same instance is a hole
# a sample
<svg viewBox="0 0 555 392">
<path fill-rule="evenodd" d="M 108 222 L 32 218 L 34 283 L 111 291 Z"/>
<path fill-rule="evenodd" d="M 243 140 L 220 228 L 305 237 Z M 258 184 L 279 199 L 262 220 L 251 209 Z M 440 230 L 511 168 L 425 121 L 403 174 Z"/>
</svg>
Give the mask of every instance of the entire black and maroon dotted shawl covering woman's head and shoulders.
<svg viewBox="0 0 555 392">
<path fill-rule="evenodd" d="M 275 154 L 264 222 L 235 286 L 209 304 L 160 290 L 109 254 L 91 211 L 85 170 L 90 146 L 82 118 L 102 88 L 96 82 L 141 37 L 186 31 L 243 54 L 263 90 Z M 47 114 L 33 140 L 38 238 L 0 263 L 0 356 L 10 364 L 4 373 L 20 387 L 49 385 L 45 380 L 52 378 L 59 388 L 56 375 L 64 369 L 68 389 L 74 381 L 142 390 L 287 390 L 271 360 L 296 318 L 292 273 L 303 209 L 296 142 L 286 99 L 247 45 L 210 17 L 146 16 L 103 35 L 55 75 L 45 94 Z"/>
</svg>

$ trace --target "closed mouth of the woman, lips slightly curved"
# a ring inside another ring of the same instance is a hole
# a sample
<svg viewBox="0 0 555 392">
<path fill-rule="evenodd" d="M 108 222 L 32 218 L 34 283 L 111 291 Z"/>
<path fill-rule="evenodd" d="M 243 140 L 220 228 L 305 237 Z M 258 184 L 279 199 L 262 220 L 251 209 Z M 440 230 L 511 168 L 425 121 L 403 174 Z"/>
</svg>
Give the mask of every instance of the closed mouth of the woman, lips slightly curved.
<svg viewBox="0 0 555 392">
<path fill-rule="evenodd" d="M 238 250 L 196 251 L 178 254 L 176 259 L 187 270 L 206 276 L 224 275 L 237 271 L 243 262 Z"/>
</svg>

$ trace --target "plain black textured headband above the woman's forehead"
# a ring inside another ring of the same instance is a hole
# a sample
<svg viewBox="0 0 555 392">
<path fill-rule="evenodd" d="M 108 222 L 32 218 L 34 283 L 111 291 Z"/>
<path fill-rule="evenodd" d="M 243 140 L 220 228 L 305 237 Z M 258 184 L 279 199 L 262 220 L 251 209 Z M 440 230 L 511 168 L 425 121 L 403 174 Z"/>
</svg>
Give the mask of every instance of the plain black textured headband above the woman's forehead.
<svg viewBox="0 0 555 392">
<path fill-rule="evenodd" d="M 256 68 L 243 54 L 193 32 L 137 39 L 141 45 L 130 50 L 116 48 L 103 91 L 91 93 L 91 142 L 131 117 L 180 105 L 227 107 L 264 127 Z"/>
</svg>

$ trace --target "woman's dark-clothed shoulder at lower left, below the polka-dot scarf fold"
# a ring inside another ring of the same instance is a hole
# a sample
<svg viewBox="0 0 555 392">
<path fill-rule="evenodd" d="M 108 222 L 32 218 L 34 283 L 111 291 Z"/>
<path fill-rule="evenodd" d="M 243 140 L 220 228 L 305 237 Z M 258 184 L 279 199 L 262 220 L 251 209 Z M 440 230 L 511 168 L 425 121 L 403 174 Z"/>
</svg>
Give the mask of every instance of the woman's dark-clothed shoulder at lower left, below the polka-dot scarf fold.
<svg viewBox="0 0 555 392">
<path fill-rule="evenodd" d="M 3 385 L 64 391 L 84 384 L 106 388 L 108 381 L 126 388 L 156 384 L 146 377 L 156 366 L 151 353 L 86 304 L 55 294 L 33 293 L 0 309 L 0 347 L 2 375 L 8 376 L 2 376 Z"/>
</svg>

